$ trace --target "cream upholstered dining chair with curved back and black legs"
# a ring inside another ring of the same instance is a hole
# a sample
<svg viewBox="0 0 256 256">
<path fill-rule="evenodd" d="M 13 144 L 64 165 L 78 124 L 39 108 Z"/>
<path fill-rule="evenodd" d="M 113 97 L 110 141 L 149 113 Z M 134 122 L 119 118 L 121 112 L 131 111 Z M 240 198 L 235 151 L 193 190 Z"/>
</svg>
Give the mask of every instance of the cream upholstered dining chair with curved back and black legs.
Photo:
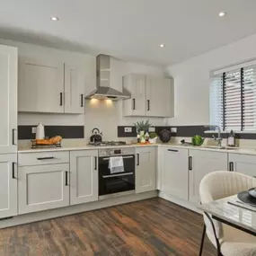
<svg viewBox="0 0 256 256">
<path fill-rule="evenodd" d="M 256 187 L 256 179 L 238 172 L 218 171 L 207 174 L 199 185 L 202 204 L 224 199 Z M 204 230 L 199 251 L 202 255 L 205 234 L 216 247 L 218 256 L 256 256 L 256 237 L 222 224 L 204 213 Z"/>
</svg>

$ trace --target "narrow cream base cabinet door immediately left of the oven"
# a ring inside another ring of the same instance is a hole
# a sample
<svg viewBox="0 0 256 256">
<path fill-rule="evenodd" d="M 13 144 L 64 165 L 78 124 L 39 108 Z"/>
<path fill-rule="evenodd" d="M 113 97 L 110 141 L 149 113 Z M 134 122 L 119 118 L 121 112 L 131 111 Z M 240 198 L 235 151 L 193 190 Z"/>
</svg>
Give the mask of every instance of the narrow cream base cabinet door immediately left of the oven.
<svg viewBox="0 0 256 256">
<path fill-rule="evenodd" d="M 98 150 L 70 152 L 70 203 L 98 200 Z"/>
</svg>

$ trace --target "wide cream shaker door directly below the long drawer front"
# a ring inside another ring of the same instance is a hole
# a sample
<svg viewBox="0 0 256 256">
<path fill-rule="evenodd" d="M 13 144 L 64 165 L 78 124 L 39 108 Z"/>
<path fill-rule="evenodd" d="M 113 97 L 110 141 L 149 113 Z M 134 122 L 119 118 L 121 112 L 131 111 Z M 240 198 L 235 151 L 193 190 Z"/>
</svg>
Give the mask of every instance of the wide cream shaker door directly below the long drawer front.
<svg viewBox="0 0 256 256">
<path fill-rule="evenodd" d="M 19 167 L 19 214 L 69 205 L 69 164 Z"/>
</svg>

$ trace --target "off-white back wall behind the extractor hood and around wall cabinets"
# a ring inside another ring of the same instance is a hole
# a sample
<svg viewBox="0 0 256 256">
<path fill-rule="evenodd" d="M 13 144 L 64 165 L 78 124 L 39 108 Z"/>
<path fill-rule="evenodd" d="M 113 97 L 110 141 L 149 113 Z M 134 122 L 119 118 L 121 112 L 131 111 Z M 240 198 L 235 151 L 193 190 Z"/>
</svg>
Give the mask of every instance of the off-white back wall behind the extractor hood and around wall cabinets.
<svg viewBox="0 0 256 256">
<path fill-rule="evenodd" d="M 54 56 L 66 62 L 79 62 L 84 65 L 86 75 L 85 94 L 90 93 L 96 86 L 95 57 L 92 55 L 69 52 L 59 49 L 49 49 L 32 44 L 16 42 L 12 40 L 0 40 L 1 44 L 18 48 L 19 56 Z M 119 91 L 122 90 L 122 76 L 129 73 L 141 73 L 147 75 L 163 75 L 163 69 L 154 66 L 145 66 L 137 63 L 123 62 L 111 58 L 111 86 Z M 142 118 L 138 118 L 142 119 Z M 92 102 L 86 101 L 84 115 L 70 114 L 38 114 L 19 113 L 18 125 L 37 125 L 43 122 L 49 126 L 84 126 L 84 137 L 89 139 L 94 127 L 100 128 L 105 140 L 117 139 L 117 126 L 132 125 L 137 118 L 122 117 L 121 102 Z M 151 119 L 154 125 L 164 125 L 164 119 Z"/>
</svg>

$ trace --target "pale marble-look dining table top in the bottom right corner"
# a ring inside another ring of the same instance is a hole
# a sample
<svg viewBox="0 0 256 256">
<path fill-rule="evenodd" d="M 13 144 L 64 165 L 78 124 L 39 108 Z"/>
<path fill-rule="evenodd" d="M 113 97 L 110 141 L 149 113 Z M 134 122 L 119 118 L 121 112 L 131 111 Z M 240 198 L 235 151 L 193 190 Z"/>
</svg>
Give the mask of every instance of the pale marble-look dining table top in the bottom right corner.
<svg viewBox="0 0 256 256">
<path fill-rule="evenodd" d="M 256 236 L 256 207 L 243 203 L 237 195 L 201 204 L 199 209 L 216 221 Z"/>
</svg>

